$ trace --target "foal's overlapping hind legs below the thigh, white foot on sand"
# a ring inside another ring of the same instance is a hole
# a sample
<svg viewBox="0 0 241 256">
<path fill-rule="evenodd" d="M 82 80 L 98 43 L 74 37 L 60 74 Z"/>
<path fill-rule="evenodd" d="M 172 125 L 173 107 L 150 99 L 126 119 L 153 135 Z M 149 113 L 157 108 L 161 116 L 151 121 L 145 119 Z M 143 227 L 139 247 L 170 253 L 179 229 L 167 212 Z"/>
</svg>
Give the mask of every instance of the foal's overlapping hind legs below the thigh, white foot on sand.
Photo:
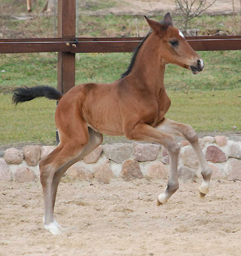
<svg viewBox="0 0 241 256">
<path fill-rule="evenodd" d="M 54 220 L 54 204 L 58 184 L 66 170 L 102 142 L 102 134 L 84 127 L 81 133 L 81 140 L 67 140 L 59 146 L 48 157 L 40 162 L 40 180 L 43 187 L 44 201 L 44 227 L 52 234 L 59 234 L 63 228 Z M 85 131 L 84 131 L 85 130 Z"/>
</svg>

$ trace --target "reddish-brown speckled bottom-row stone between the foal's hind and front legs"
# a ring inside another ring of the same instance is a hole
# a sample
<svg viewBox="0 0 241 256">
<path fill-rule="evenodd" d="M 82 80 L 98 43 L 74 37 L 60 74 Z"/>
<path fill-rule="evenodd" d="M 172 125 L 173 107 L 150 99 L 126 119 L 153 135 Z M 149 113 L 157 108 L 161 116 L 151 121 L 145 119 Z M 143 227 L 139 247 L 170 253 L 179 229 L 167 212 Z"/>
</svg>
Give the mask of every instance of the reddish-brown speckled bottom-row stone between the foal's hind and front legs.
<svg viewBox="0 0 241 256">
<path fill-rule="evenodd" d="M 141 172 L 139 163 L 132 159 L 129 159 L 123 163 L 121 175 L 125 181 L 143 178 L 143 173 Z"/>
</svg>

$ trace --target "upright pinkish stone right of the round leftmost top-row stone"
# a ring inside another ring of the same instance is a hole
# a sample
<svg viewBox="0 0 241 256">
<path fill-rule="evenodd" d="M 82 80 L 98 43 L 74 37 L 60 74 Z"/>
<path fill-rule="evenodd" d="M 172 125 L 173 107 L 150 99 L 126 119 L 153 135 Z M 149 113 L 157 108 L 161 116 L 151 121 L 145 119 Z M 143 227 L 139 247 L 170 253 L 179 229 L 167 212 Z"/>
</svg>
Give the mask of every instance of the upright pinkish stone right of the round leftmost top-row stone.
<svg viewBox="0 0 241 256">
<path fill-rule="evenodd" d="M 40 161 L 40 146 L 25 146 L 22 148 L 22 152 L 24 154 L 24 159 L 28 166 L 36 166 Z"/>
</svg>

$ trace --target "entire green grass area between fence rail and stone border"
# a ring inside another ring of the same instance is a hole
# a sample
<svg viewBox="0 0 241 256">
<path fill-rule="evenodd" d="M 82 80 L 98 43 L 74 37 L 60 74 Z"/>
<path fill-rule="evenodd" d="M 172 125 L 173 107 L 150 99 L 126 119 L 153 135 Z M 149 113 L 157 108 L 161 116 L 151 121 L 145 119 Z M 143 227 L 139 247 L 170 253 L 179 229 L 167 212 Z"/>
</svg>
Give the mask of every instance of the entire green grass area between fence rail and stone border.
<svg viewBox="0 0 241 256">
<path fill-rule="evenodd" d="M 241 128 L 241 51 L 199 52 L 205 70 L 192 75 L 174 65 L 166 68 L 165 84 L 172 100 L 167 118 L 192 125 L 198 132 Z M 125 72 L 131 54 L 80 54 L 76 82 L 111 82 Z M 52 144 L 56 102 L 36 99 L 13 106 L 13 88 L 56 87 L 56 54 L 4 54 L 0 65 L 0 145 L 16 141 Z"/>
</svg>

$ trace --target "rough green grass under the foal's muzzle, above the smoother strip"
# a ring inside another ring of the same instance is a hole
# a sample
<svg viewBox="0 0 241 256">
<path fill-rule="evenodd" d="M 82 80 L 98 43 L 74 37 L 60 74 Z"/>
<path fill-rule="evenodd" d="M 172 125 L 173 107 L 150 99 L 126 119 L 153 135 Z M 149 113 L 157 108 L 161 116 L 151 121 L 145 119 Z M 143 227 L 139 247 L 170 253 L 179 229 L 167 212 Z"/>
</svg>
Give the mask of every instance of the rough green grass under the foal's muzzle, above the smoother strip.
<svg viewBox="0 0 241 256">
<path fill-rule="evenodd" d="M 241 88 L 241 51 L 199 52 L 199 55 L 205 68 L 198 76 L 175 65 L 167 65 L 166 88 L 183 91 Z"/>
</svg>

